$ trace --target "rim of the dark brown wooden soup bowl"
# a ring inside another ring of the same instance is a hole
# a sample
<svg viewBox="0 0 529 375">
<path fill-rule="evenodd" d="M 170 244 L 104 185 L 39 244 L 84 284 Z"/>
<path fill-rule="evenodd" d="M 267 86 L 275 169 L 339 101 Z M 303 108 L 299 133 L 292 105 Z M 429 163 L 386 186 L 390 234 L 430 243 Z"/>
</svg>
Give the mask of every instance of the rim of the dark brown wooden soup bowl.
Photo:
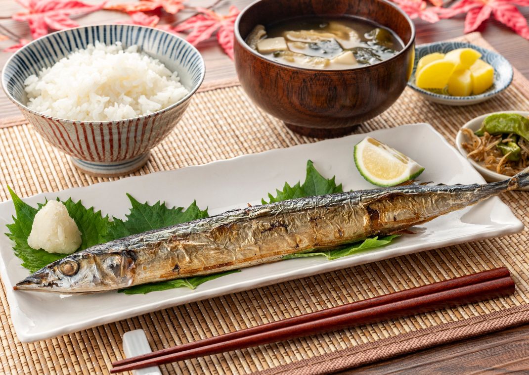
<svg viewBox="0 0 529 375">
<path fill-rule="evenodd" d="M 244 48 L 245 50 L 247 50 L 250 53 L 252 53 L 253 56 L 255 56 L 255 57 L 257 57 L 257 58 L 259 58 L 259 59 L 261 59 L 263 61 L 266 61 L 266 62 L 268 62 L 268 63 L 270 63 L 272 65 L 277 65 L 280 68 L 287 68 L 287 69 L 293 70 L 293 71 L 301 70 L 301 71 L 304 71 L 304 72 L 307 72 L 307 73 L 314 73 L 314 72 L 329 72 L 329 73 L 361 72 L 361 71 L 369 69 L 371 67 L 379 66 L 379 65 L 382 65 L 382 64 L 387 64 L 389 61 L 397 59 L 400 55 L 403 55 L 407 50 L 409 50 L 410 48 L 413 48 L 414 43 L 415 43 L 415 34 L 416 34 L 416 32 L 415 32 L 415 24 L 413 23 L 411 18 L 402 9 L 400 9 L 396 4 L 394 4 L 394 3 L 392 3 L 392 2 L 390 2 L 388 0 L 377 0 L 378 2 L 386 3 L 387 5 L 395 8 L 395 10 L 397 12 L 399 12 L 402 16 L 404 16 L 404 18 L 408 22 L 408 25 L 410 26 L 410 29 L 411 29 L 411 35 L 410 35 L 409 41 L 406 43 L 405 46 L 403 46 L 403 48 L 400 51 L 395 53 L 395 55 L 393 55 L 393 56 L 391 56 L 391 57 L 389 57 L 389 58 L 387 58 L 385 60 L 382 60 L 382 61 L 379 61 L 379 62 L 375 62 L 375 64 L 369 64 L 369 65 L 364 65 L 364 66 L 360 66 L 360 67 L 354 67 L 354 68 L 350 68 L 350 69 L 313 69 L 313 68 L 296 67 L 296 66 L 292 66 L 292 65 L 288 65 L 288 64 L 283 64 L 282 62 L 278 62 L 278 61 L 274 61 L 274 60 L 271 60 L 271 59 L 267 59 L 266 57 L 261 55 L 257 50 L 254 50 L 253 48 L 251 48 L 248 45 L 248 43 L 242 38 L 241 33 L 239 31 L 240 22 L 241 22 L 242 17 L 244 16 L 244 14 L 251 7 L 253 7 L 257 3 L 260 3 L 262 1 L 266 1 L 266 0 L 256 0 L 256 1 L 254 1 L 253 3 L 251 3 L 247 7 L 245 7 L 241 11 L 241 13 L 237 16 L 237 19 L 235 20 L 235 27 L 234 27 L 235 39 L 237 40 L 238 44 L 240 44 L 240 46 L 242 46 L 242 48 Z M 314 14 L 314 15 L 316 15 L 316 14 Z M 331 14 L 329 14 L 329 15 L 331 15 Z M 344 14 L 344 15 L 355 16 L 355 17 L 360 18 L 362 20 L 371 21 L 371 22 L 377 22 L 374 19 L 368 19 L 366 17 L 360 17 L 360 16 L 357 16 L 357 15 L 354 15 L 354 14 Z M 323 15 L 323 16 L 325 16 L 325 15 Z M 254 27 L 255 26 L 256 25 L 254 25 Z M 390 28 L 387 28 L 387 29 L 391 30 Z M 391 32 L 395 33 L 395 31 L 393 31 L 393 30 L 391 30 Z M 400 39 L 400 37 L 399 37 L 399 39 Z"/>
</svg>

